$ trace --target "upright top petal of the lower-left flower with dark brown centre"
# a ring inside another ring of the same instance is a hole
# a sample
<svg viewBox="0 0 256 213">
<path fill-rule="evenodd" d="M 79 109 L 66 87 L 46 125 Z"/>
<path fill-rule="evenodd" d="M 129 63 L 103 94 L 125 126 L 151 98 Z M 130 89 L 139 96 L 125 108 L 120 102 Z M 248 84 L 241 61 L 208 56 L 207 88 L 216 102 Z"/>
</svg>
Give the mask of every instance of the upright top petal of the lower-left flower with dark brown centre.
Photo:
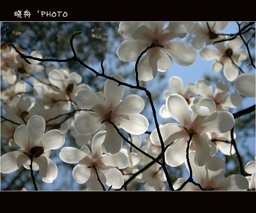
<svg viewBox="0 0 256 213">
<path fill-rule="evenodd" d="M 26 124 L 26 130 L 30 142 L 30 147 L 36 147 L 39 144 L 45 131 L 45 121 L 44 118 L 38 115 L 33 115 L 29 118 Z"/>
</svg>

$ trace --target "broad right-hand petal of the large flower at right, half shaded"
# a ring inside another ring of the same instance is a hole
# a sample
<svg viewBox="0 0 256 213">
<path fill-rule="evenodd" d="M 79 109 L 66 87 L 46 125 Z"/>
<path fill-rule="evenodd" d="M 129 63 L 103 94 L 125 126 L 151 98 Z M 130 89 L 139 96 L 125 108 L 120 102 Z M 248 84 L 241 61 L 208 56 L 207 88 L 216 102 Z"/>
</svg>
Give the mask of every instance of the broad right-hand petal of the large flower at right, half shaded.
<svg viewBox="0 0 256 213">
<path fill-rule="evenodd" d="M 204 119 L 201 125 L 202 133 L 204 132 L 228 132 L 233 128 L 235 120 L 230 112 L 218 111 Z"/>
</svg>

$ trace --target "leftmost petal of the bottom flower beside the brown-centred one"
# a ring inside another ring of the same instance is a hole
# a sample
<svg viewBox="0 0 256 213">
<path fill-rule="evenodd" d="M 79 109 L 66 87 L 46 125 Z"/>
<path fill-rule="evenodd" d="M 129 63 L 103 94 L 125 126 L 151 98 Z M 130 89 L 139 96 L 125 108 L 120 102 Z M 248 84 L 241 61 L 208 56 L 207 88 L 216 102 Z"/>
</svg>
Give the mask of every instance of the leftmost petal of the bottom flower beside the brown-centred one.
<svg viewBox="0 0 256 213">
<path fill-rule="evenodd" d="M 59 156 L 61 161 L 64 161 L 67 164 L 77 164 L 84 158 L 90 158 L 90 155 L 87 155 L 75 147 L 64 147 L 61 149 Z"/>
</svg>

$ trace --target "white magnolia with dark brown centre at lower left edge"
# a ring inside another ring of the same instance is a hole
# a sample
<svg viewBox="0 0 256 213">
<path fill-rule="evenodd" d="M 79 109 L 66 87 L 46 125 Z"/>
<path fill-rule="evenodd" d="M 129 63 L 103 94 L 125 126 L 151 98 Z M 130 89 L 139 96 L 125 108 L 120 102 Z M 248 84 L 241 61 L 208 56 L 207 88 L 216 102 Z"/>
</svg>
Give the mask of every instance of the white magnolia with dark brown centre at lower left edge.
<svg viewBox="0 0 256 213">
<path fill-rule="evenodd" d="M 20 125 L 14 133 L 14 141 L 20 147 L 19 151 L 13 151 L 1 156 L 1 173 L 12 173 L 22 165 L 30 169 L 30 159 L 33 157 L 32 169 L 39 170 L 40 177 L 45 183 L 52 183 L 57 177 L 58 168 L 49 158 L 50 151 L 63 146 L 64 134 L 59 130 L 45 131 L 44 118 L 38 115 L 32 116 L 27 125 Z M 26 155 L 26 154 L 28 155 Z"/>
</svg>

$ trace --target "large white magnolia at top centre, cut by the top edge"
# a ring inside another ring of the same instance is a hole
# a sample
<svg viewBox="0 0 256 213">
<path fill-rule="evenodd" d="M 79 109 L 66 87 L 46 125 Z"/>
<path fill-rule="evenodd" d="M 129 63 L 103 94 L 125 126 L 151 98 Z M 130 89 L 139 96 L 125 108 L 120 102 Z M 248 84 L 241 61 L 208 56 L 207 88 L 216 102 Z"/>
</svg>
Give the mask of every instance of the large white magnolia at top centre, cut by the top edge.
<svg viewBox="0 0 256 213">
<path fill-rule="evenodd" d="M 139 55 L 152 43 L 145 57 L 138 63 L 138 78 L 151 81 L 157 71 L 166 72 L 171 67 L 171 57 L 177 64 L 189 66 L 197 58 L 196 50 L 185 42 L 170 41 L 183 38 L 187 29 L 180 22 L 170 22 L 163 29 L 165 22 L 121 22 L 119 32 L 126 39 L 116 49 L 119 59 L 125 62 L 136 61 Z M 186 25 L 187 26 L 187 25 Z"/>
</svg>

